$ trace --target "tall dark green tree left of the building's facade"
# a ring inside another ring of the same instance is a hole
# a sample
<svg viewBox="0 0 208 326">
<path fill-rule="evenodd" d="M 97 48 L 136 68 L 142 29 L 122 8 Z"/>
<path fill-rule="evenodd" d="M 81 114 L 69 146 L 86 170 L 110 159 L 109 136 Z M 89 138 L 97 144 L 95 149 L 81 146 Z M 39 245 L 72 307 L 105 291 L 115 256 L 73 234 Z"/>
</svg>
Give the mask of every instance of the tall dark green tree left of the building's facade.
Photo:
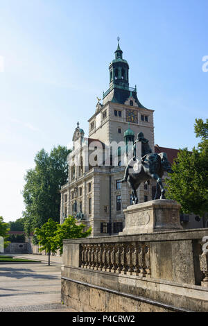
<svg viewBox="0 0 208 326">
<path fill-rule="evenodd" d="M 60 187 L 67 182 L 68 166 L 66 147 L 54 147 L 51 153 L 44 149 L 35 155 L 35 168 L 27 171 L 23 197 L 25 231 L 28 235 L 48 220 L 60 218 Z"/>
</svg>

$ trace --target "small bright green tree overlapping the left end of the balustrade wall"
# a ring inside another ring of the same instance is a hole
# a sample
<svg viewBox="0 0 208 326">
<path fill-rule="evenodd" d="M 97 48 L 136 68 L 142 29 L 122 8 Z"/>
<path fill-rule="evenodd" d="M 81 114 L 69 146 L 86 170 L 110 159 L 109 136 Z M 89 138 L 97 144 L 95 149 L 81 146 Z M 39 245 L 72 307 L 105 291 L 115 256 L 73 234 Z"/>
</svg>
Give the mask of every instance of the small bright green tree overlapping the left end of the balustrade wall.
<svg viewBox="0 0 208 326">
<path fill-rule="evenodd" d="M 57 231 L 55 232 L 55 246 L 60 250 L 60 254 L 63 252 L 63 240 L 64 239 L 76 239 L 76 238 L 86 238 L 92 232 L 92 228 L 87 231 L 83 231 L 85 225 L 83 223 L 77 224 L 76 218 L 69 216 L 65 219 L 64 223 L 59 224 Z"/>
</svg>

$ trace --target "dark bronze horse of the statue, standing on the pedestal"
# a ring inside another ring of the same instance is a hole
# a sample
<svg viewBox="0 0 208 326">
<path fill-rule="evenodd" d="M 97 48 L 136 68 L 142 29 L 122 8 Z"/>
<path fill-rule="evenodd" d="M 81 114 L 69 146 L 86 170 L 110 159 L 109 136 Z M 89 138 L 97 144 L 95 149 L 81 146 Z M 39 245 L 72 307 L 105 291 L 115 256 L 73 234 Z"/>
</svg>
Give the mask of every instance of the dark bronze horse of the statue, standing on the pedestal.
<svg viewBox="0 0 208 326">
<path fill-rule="evenodd" d="M 136 165 L 135 165 L 136 164 Z M 132 190 L 132 203 L 138 203 L 137 189 L 141 182 L 153 179 L 157 182 L 154 199 L 165 199 L 165 189 L 162 185 L 164 171 L 173 173 L 171 164 L 168 162 L 166 153 L 150 153 L 141 157 L 141 160 L 130 160 L 128 171 L 128 185 Z M 159 189 L 161 196 L 159 197 Z"/>
</svg>

